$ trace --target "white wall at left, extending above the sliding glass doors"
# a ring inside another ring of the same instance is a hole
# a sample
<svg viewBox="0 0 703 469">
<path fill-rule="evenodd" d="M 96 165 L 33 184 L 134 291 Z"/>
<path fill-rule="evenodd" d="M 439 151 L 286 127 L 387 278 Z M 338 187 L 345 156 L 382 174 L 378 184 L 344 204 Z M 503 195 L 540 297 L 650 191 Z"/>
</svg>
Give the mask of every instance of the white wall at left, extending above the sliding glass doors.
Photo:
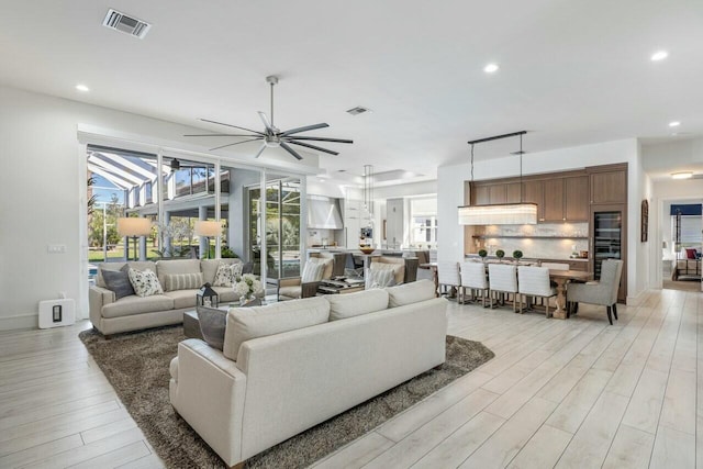
<svg viewBox="0 0 703 469">
<path fill-rule="evenodd" d="M 180 124 L 0 87 L 0 330 L 36 327 L 37 302 L 59 292 L 76 299 L 78 316 L 87 316 L 86 239 L 79 223 L 87 175 L 79 169 L 86 158 L 77 138 L 79 125 L 204 148 L 186 141 L 182 134 L 193 129 Z M 226 155 L 239 163 L 252 157 Z M 261 158 L 250 163 L 293 167 L 278 161 L 275 153 Z M 304 172 L 316 171 L 317 157 L 305 160 L 310 166 Z M 52 244 L 65 245 L 66 253 L 47 254 Z"/>
</svg>

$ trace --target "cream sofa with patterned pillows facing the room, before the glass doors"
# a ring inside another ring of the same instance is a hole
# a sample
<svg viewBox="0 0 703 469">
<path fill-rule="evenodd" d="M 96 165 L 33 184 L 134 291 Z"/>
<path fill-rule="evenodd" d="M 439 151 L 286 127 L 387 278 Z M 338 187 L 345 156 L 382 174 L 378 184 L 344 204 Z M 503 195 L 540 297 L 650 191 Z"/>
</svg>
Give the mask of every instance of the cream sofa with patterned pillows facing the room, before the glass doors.
<svg viewBox="0 0 703 469">
<path fill-rule="evenodd" d="M 126 263 L 136 270 L 149 269 L 155 272 L 164 287 L 167 275 L 202 272 L 203 283 L 212 283 L 220 263 L 241 263 L 239 259 L 172 259 Z M 127 331 L 138 331 L 183 322 L 183 312 L 196 308 L 198 289 L 164 291 L 164 294 L 137 297 L 132 294 L 115 300 L 112 290 L 108 290 L 102 269 L 120 270 L 125 263 L 105 263 L 99 265 L 96 286 L 90 287 L 89 306 L 92 325 L 103 335 Z M 235 301 L 232 287 L 213 287 L 221 303 Z"/>
</svg>

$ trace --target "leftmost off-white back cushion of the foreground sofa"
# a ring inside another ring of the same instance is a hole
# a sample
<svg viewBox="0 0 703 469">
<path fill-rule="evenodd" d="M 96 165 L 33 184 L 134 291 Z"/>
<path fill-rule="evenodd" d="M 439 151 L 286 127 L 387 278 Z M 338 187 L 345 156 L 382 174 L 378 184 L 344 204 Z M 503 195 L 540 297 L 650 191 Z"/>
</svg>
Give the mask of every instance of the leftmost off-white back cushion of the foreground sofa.
<svg viewBox="0 0 703 469">
<path fill-rule="evenodd" d="M 328 319 L 330 302 L 324 298 L 232 308 L 227 313 L 224 356 L 236 361 L 239 346 L 246 340 L 326 323 Z"/>
</svg>

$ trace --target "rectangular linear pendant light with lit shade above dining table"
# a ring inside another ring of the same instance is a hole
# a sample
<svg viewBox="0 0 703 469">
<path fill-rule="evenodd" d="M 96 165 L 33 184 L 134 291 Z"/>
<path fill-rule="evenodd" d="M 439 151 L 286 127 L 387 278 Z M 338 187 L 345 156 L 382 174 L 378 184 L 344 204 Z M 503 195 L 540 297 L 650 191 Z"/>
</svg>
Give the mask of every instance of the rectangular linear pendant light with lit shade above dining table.
<svg viewBox="0 0 703 469">
<path fill-rule="evenodd" d="M 520 203 L 500 203 L 488 205 L 459 206 L 460 225 L 535 225 L 537 224 L 537 204 L 523 202 L 523 135 L 527 131 L 470 141 L 471 182 L 473 182 L 473 145 L 501 138 L 520 136 Z"/>
</svg>

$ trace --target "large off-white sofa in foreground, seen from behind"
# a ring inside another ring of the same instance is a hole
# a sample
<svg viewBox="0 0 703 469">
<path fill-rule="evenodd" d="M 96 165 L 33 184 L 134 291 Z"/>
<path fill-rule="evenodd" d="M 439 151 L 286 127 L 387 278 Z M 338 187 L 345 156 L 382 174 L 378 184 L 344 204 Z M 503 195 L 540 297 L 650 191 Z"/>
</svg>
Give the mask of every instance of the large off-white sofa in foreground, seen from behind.
<svg viewBox="0 0 703 469">
<path fill-rule="evenodd" d="M 244 320 L 231 309 L 224 351 L 179 344 L 171 404 L 226 465 L 238 465 L 443 364 L 447 303 L 434 295 L 422 280 L 249 309 Z M 234 328 L 266 330 L 269 313 L 320 323 L 241 342 Z"/>
</svg>

